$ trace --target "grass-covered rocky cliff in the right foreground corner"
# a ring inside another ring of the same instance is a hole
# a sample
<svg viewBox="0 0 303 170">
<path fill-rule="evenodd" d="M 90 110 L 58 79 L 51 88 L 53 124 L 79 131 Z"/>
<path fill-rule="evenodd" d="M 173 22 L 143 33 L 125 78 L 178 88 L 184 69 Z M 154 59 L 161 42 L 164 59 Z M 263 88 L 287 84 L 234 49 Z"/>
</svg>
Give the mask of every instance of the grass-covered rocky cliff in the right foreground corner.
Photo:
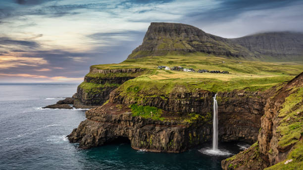
<svg viewBox="0 0 303 170">
<path fill-rule="evenodd" d="M 303 73 L 274 90 L 264 107 L 257 142 L 223 160 L 224 170 L 303 168 Z"/>
</svg>

